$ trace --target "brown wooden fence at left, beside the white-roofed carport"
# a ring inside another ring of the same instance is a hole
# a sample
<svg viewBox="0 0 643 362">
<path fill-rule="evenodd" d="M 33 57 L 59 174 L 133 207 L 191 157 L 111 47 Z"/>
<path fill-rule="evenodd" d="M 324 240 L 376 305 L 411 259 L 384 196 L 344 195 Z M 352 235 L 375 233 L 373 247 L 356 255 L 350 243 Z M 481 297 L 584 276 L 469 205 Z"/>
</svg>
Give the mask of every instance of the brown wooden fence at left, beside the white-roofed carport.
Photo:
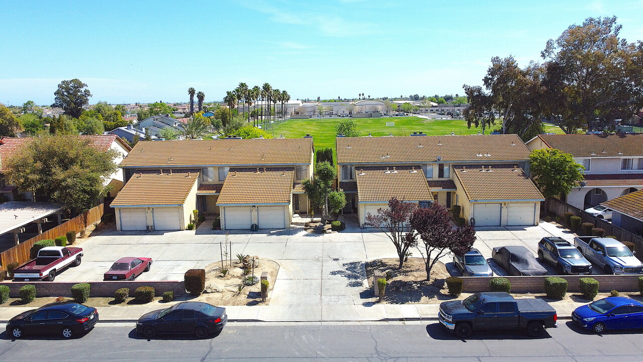
<svg viewBox="0 0 643 362">
<path fill-rule="evenodd" d="M 99 222 L 104 213 L 104 205 L 100 204 L 76 216 L 75 218 L 69 219 L 67 222 L 57 225 L 42 234 L 33 236 L 31 239 L 15 245 L 11 249 L 0 252 L 0 265 L 3 269 L 6 269 L 6 265 L 9 263 L 22 264 L 30 259 L 30 251 L 35 242 L 45 239 L 55 239 L 58 236 L 65 236 L 68 231 L 72 230 L 80 233 L 80 231 L 86 229 L 87 226 L 94 224 L 95 222 Z"/>
</svg>

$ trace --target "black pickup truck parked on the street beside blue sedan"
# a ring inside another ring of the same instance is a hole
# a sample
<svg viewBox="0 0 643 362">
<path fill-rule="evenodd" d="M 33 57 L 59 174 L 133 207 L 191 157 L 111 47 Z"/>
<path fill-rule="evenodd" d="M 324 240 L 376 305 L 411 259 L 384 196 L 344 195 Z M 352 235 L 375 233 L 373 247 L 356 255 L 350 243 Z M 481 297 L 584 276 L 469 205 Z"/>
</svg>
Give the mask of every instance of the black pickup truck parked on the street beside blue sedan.
<svg viewBox="0 0 643 362">
<path fill-rule="evenodd" d="M 476 293 L 466 300 L 440 304 L 440 323 L 460 338 L 477 329 L 524 329 L 539 337 L 545 328 L 557 327 L 557 314 L 546 301 L 515 300 L 509 293 Z"/>
</svg>

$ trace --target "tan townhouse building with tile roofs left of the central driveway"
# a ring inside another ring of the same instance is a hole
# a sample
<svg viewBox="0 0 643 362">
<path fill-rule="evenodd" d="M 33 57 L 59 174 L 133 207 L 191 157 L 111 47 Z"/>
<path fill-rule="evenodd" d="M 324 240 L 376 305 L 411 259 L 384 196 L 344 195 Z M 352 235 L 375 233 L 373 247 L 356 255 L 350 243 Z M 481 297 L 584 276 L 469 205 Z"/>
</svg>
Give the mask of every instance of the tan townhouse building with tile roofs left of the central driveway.
<svg viewBox="0 0 643 362">
<path fill-rule="evenodd" d="M 118 230 L 182 230 L 193 210 L 221 229 L 283 229 L 306 213 L 312 138 L 140 141 L 111 203 Z"/>
</svg>

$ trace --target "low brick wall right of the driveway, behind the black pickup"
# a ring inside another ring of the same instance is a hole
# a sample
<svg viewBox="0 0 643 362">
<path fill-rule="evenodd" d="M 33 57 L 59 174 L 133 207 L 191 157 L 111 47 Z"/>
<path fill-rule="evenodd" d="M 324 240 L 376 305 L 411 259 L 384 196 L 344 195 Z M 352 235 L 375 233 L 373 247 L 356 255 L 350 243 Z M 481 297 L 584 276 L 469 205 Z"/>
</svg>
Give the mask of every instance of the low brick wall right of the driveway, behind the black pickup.
<svg viewBox="0 0 643 362">
<path fill-rule="evenodd" d="M 638 277 L 640 275 L 592 275 L 591 278 L 599 281 L 599 291 L 609 292 L 616 290 L 619 292 L 637 292 L 638 291 Z M 568 292 L 580 292 L 579 279 L 586 276 L 581 275 L 565 275 L 560 276 L 567 280 L 569 286 Z M 464 284 L 462 291 L 466 293 L 475 292 L 488 292 L 489 280 L 494 277 L 486 276 L 469 276 L 464 277 Z M 503 276 L 511 282 L 511 292 L 516 293 L 544 293 L 545 292 L 545 278 L 547 276 Z"/>
</svg>

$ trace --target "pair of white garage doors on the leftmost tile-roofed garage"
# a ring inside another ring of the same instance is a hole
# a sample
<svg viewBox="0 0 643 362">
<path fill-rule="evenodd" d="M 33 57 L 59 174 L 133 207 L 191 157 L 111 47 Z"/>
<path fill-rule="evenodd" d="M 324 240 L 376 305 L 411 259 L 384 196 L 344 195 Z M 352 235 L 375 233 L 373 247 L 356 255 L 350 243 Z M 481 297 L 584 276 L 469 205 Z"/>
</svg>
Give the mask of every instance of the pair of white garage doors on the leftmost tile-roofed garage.
<svg viewBox="0 0 643 362">
<path fill-rule="evenodd" d="M 119 214 L 121 230 L 147 230 L 145 207 L 121 207 Z M 154 230 L 181 230 L 181 208 L 153 207 L 152 222 Z"/>
</svg>

